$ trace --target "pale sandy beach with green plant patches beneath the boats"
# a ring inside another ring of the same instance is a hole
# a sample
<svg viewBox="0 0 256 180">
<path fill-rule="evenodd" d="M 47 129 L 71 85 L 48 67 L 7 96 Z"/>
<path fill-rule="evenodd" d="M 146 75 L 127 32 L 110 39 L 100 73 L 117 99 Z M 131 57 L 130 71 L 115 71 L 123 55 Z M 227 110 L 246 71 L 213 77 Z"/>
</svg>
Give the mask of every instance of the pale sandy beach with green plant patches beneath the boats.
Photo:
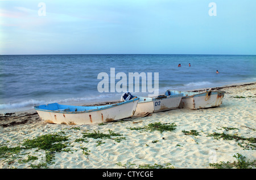
<svg viewBox="0 0 256 180">
<path fill-rule="evenodd" d="M 16 112 L 0 118 L 0 168 L 211 169 L 209 164 L 237 161 L 237 154 L 254 161 L 250 168 L 255 168 L 256 83 L 215 89 L 226 92 L 217 108 L 175 109 L 94 125 L 57 125 L 43 122 L 34 110 Z M 172 131 L 150 131 L 145 128 L 150 123 L 176 126 Z M 105 138 L 89 136 L 96 132 Z M 65 138 L 58 142 L 63 147 L 55 151 L 26 145 L 43 135 Z"/>
</svg>

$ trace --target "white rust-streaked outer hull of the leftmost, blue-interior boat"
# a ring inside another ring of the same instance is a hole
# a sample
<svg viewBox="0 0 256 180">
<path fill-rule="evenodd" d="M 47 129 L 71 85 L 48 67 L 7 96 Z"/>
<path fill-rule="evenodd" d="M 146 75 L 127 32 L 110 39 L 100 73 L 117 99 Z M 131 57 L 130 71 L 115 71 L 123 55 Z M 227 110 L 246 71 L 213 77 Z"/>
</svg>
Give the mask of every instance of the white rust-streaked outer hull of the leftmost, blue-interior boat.
<svg viewBox="0 0 256 180">
<path fill-rule="evenodd" d="M 139 98 L 119 104 L 104 106 L 84 112 L 65 112 L 39 109 L 35 106 L 40 118 L 48 123 L 65 125 L 87 125 L 92 123 L 111 122 L 134 115 Z"/>
</svg>

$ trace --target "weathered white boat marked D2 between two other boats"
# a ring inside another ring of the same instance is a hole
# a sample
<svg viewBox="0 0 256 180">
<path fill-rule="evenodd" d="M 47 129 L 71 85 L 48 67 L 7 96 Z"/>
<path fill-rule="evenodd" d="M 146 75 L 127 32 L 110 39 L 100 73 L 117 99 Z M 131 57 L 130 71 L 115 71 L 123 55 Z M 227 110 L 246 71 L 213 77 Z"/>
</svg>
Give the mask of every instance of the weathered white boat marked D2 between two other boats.
<svg viewBox="0 0 256 180">
<path fill-rule="evenodd" d="M 125 93 L 123 93 L 121 101 L 125 100 L 123 96 L 125 96 Z M 133 97 L 134 96 L 131 95 L 131 98 Z M 139 113 L 156 113 L 176 109 L 179 107 L 183 94 L 177 93 L 168 96 L 160 95 L 155 97 L 137 97 L 139 98 L 139 102 L 135 111 L 135 115 Z"/>
</svg>

